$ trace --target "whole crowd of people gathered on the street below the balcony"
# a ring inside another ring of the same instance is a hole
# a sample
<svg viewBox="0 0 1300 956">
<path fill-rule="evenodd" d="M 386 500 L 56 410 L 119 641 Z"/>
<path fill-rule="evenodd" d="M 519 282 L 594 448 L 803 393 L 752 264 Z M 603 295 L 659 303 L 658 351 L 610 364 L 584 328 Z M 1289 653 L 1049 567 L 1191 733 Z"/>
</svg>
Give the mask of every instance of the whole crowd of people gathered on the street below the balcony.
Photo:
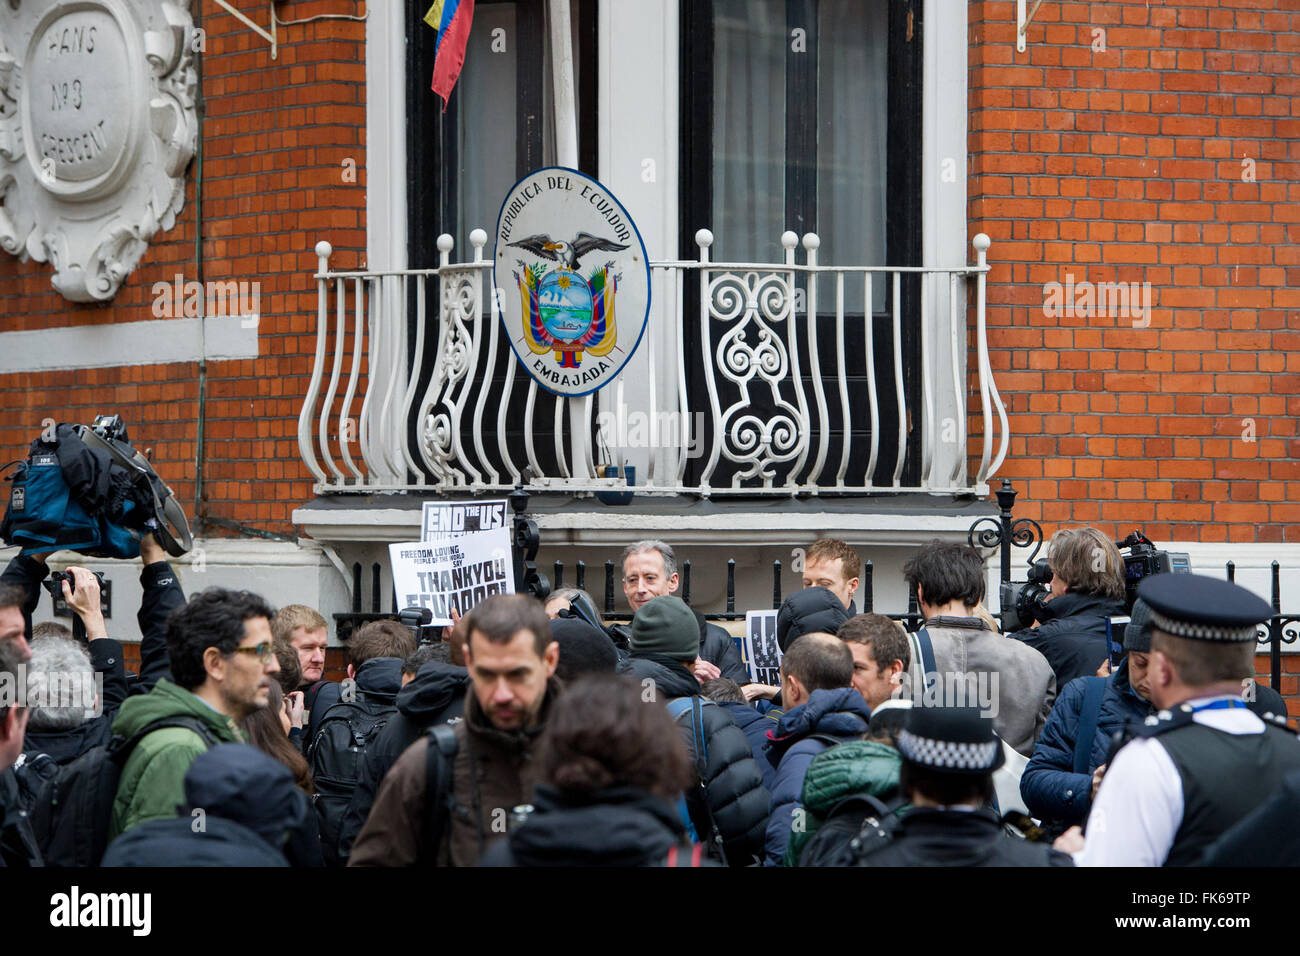
<svg viewBox="0 0 1300 956">
<path fill-rule="evenodd" d="M 151 537 L 129 672 L 95 575 L 60 585 L 84 637 L 34 628 L 47 567 L 21 554 L 0 578 L 0 865 L 1300 862 L 1275 823 L 1300 740 L 1254 680 L 1269 605 L 1166 574 L 1130 607 L 1089 528 L 1048 562 L 1041 619 L 1004 635 L 982 557 L 924 546 L 909 633 L 858 613 L 861 558 L 822 538 L 767 685 L 676 596 L 662 541 L 624 553 L 628 624 L 575 588 L 491 597 L 436 637 L 359 627 L 342 682 L 317 610 L 186 600 Z"/>
</svg>

